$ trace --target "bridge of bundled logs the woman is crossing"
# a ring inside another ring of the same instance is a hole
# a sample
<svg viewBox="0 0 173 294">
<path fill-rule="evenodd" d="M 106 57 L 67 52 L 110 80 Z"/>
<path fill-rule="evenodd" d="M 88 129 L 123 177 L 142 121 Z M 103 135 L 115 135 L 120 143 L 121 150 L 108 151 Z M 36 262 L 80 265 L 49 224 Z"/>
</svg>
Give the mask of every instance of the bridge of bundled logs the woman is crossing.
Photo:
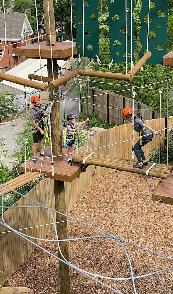
<svg viewBox="0 0 173 294">
<path fill-rule="evenodd" d="M 89 156 L 91 152 L 82 152 L 78 153 L 77 157 L 72 156 L 72 160 L 74 162 L 82 163 L 84 158 Z M 126 159 L 126 158 L 118 158 L 114 156 L 109 156 L 105 154 L 94 153 L 89 158 L 85 159 L 85 164 L 94 165 L 94 166 L 102 166 L 106 168 L 114 168 L 119 171 L 128 171 L 130 173 L 139 173 L 141 175 L 146 175 L 147 169 L 152 165 L 149 163 L 149 166 L 144 166 L 144 168 L 134 168 L 133 164 L 137 163 L 136 160 Z M 155 178 L 167 179 L 170 171 L 172 171 L 172 166 L 161 165 L 160 174 L 159 174 L 159 164 L 156 164 L 148 173 L 149 176 Z"/>
</svg>

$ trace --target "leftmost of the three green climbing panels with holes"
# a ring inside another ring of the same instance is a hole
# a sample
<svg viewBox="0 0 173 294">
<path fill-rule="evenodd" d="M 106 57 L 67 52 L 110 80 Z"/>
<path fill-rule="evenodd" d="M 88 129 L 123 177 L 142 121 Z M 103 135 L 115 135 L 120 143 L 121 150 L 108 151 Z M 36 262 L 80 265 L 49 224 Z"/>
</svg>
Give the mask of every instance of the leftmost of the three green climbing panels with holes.
<svg viewBox="0 0 173 294">
<path fill-rule="evenodd" d="M 76 0 L 76 46 L 77 56 L 96 58 L 99 56 L 99 22 L 98 22 L 98 5 L 99 0 L 84 1 L 84 54 L 83 54 L 83 13 L 82 0 Z"/>
</svg>

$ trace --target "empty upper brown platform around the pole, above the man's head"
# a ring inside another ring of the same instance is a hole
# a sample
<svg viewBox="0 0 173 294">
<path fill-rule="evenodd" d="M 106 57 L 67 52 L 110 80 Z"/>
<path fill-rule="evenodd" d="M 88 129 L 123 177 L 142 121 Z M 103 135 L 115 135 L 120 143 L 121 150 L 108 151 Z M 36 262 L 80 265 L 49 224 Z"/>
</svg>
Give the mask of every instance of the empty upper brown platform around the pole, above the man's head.
<svg viewBox="0 0 173 294">
<path fill-rule="evenodd" d="M 41 59 L 51 58 L 51 47 L 46 46 L 46 42 L 40 42 Z M 30 44 L 14 48 L 15 56 L 26 56 L 29 58 L 39 58 L 39 44 Z M 77 48 L 76 43 L 73 42 L 73 55 L 76 57 Z M 70 60 L 72 56 L 71 42 L 56 42 L 52 46 L 52 57 L 54 59 Z"/>
</svg>

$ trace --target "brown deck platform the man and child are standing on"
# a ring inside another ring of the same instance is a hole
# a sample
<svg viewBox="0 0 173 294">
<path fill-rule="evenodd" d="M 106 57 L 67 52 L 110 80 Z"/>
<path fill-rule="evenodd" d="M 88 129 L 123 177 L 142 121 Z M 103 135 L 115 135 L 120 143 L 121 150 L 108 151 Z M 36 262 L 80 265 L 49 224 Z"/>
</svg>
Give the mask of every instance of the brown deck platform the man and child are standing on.
<svg viewBox="0 0 173 294">
<path fill-rule="evenodd" d="M 46 147 L 45 152 L 51 154 L 50 146 Z M 63 154 L 67 154 L 66 148 L 63 148 Z M 41 158 L 39 158 L 39 153 L 37 154 L 37 158 L 41 162 Z M 35 164 L 33 161 L 31 161 L 31 166 L 32 171 L 35 171 L 37 173 L 40 172 L 41 168 L 41 172 L 46 173 L 47 178 L 69 183 L 71 183 L 75 178 L 79 177 L 79 175 L 84 171 L 81 168 L 83 164 L 74 163 L 73 166 L 70 166 L 67 163 L 67 155 L 63 156 L 63 160 L 61 161 L 54 161 L 54 176 L 51 175 L 51 157 L 43 159 L 42 167 L 41 164 Z M 26 161 L 26 171 L 30 170 L 30 162 Z M 19 171 L 22 173 L 25 172 L 25 162 L 19 166 Z"/>
</svg>

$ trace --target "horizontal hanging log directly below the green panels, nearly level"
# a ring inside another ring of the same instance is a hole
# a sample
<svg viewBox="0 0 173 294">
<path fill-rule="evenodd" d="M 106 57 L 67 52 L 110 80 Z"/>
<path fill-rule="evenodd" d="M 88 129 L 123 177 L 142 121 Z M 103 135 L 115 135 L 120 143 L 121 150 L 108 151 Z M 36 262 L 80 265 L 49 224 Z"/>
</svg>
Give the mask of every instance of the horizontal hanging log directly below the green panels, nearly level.
<svg viewBox="0 0 173 294">
<path fill-rule="evenodd" d="M 83 69 L 79 69 L 80 76 L 92 76 L 95 78 L 108 78 L 112 80 L 122 80 L 122 81 L 132 81 L 132 74 L 119 74 L 112 72 L 104 72 L 104 71 L 86 71 Z"/>
</svg>

